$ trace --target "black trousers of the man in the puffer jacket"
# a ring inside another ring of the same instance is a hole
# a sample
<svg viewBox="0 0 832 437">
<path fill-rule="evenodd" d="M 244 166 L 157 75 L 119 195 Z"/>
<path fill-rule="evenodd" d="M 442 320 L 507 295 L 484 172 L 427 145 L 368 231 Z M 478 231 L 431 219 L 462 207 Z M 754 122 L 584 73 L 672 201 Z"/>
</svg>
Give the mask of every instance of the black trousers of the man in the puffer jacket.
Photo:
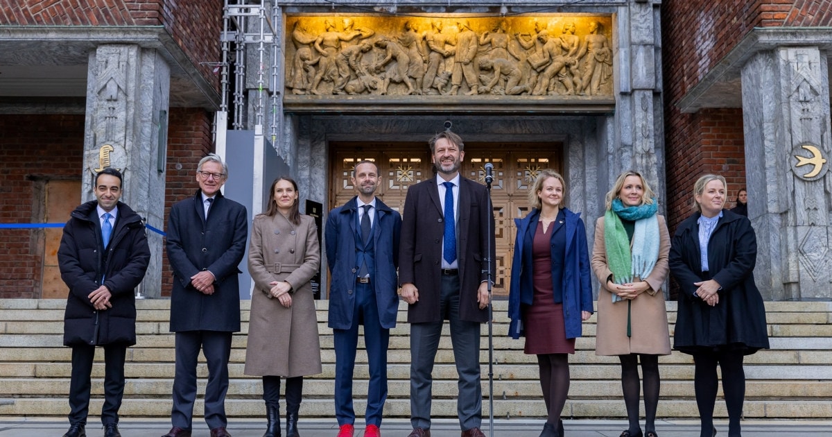
<svg viewBox="0 0 832 437">
<path fill-rule="evenodd" d="M 126 345 L 104 346 L 104 405 L 102 424 L 118 423 L 118 409 L 124 395 Z M 69 383 L 69 423 L 86 424 L 90 406 L 90 375 L 96 347 L 72 346 L 72 379 Z"/>
</svg>

